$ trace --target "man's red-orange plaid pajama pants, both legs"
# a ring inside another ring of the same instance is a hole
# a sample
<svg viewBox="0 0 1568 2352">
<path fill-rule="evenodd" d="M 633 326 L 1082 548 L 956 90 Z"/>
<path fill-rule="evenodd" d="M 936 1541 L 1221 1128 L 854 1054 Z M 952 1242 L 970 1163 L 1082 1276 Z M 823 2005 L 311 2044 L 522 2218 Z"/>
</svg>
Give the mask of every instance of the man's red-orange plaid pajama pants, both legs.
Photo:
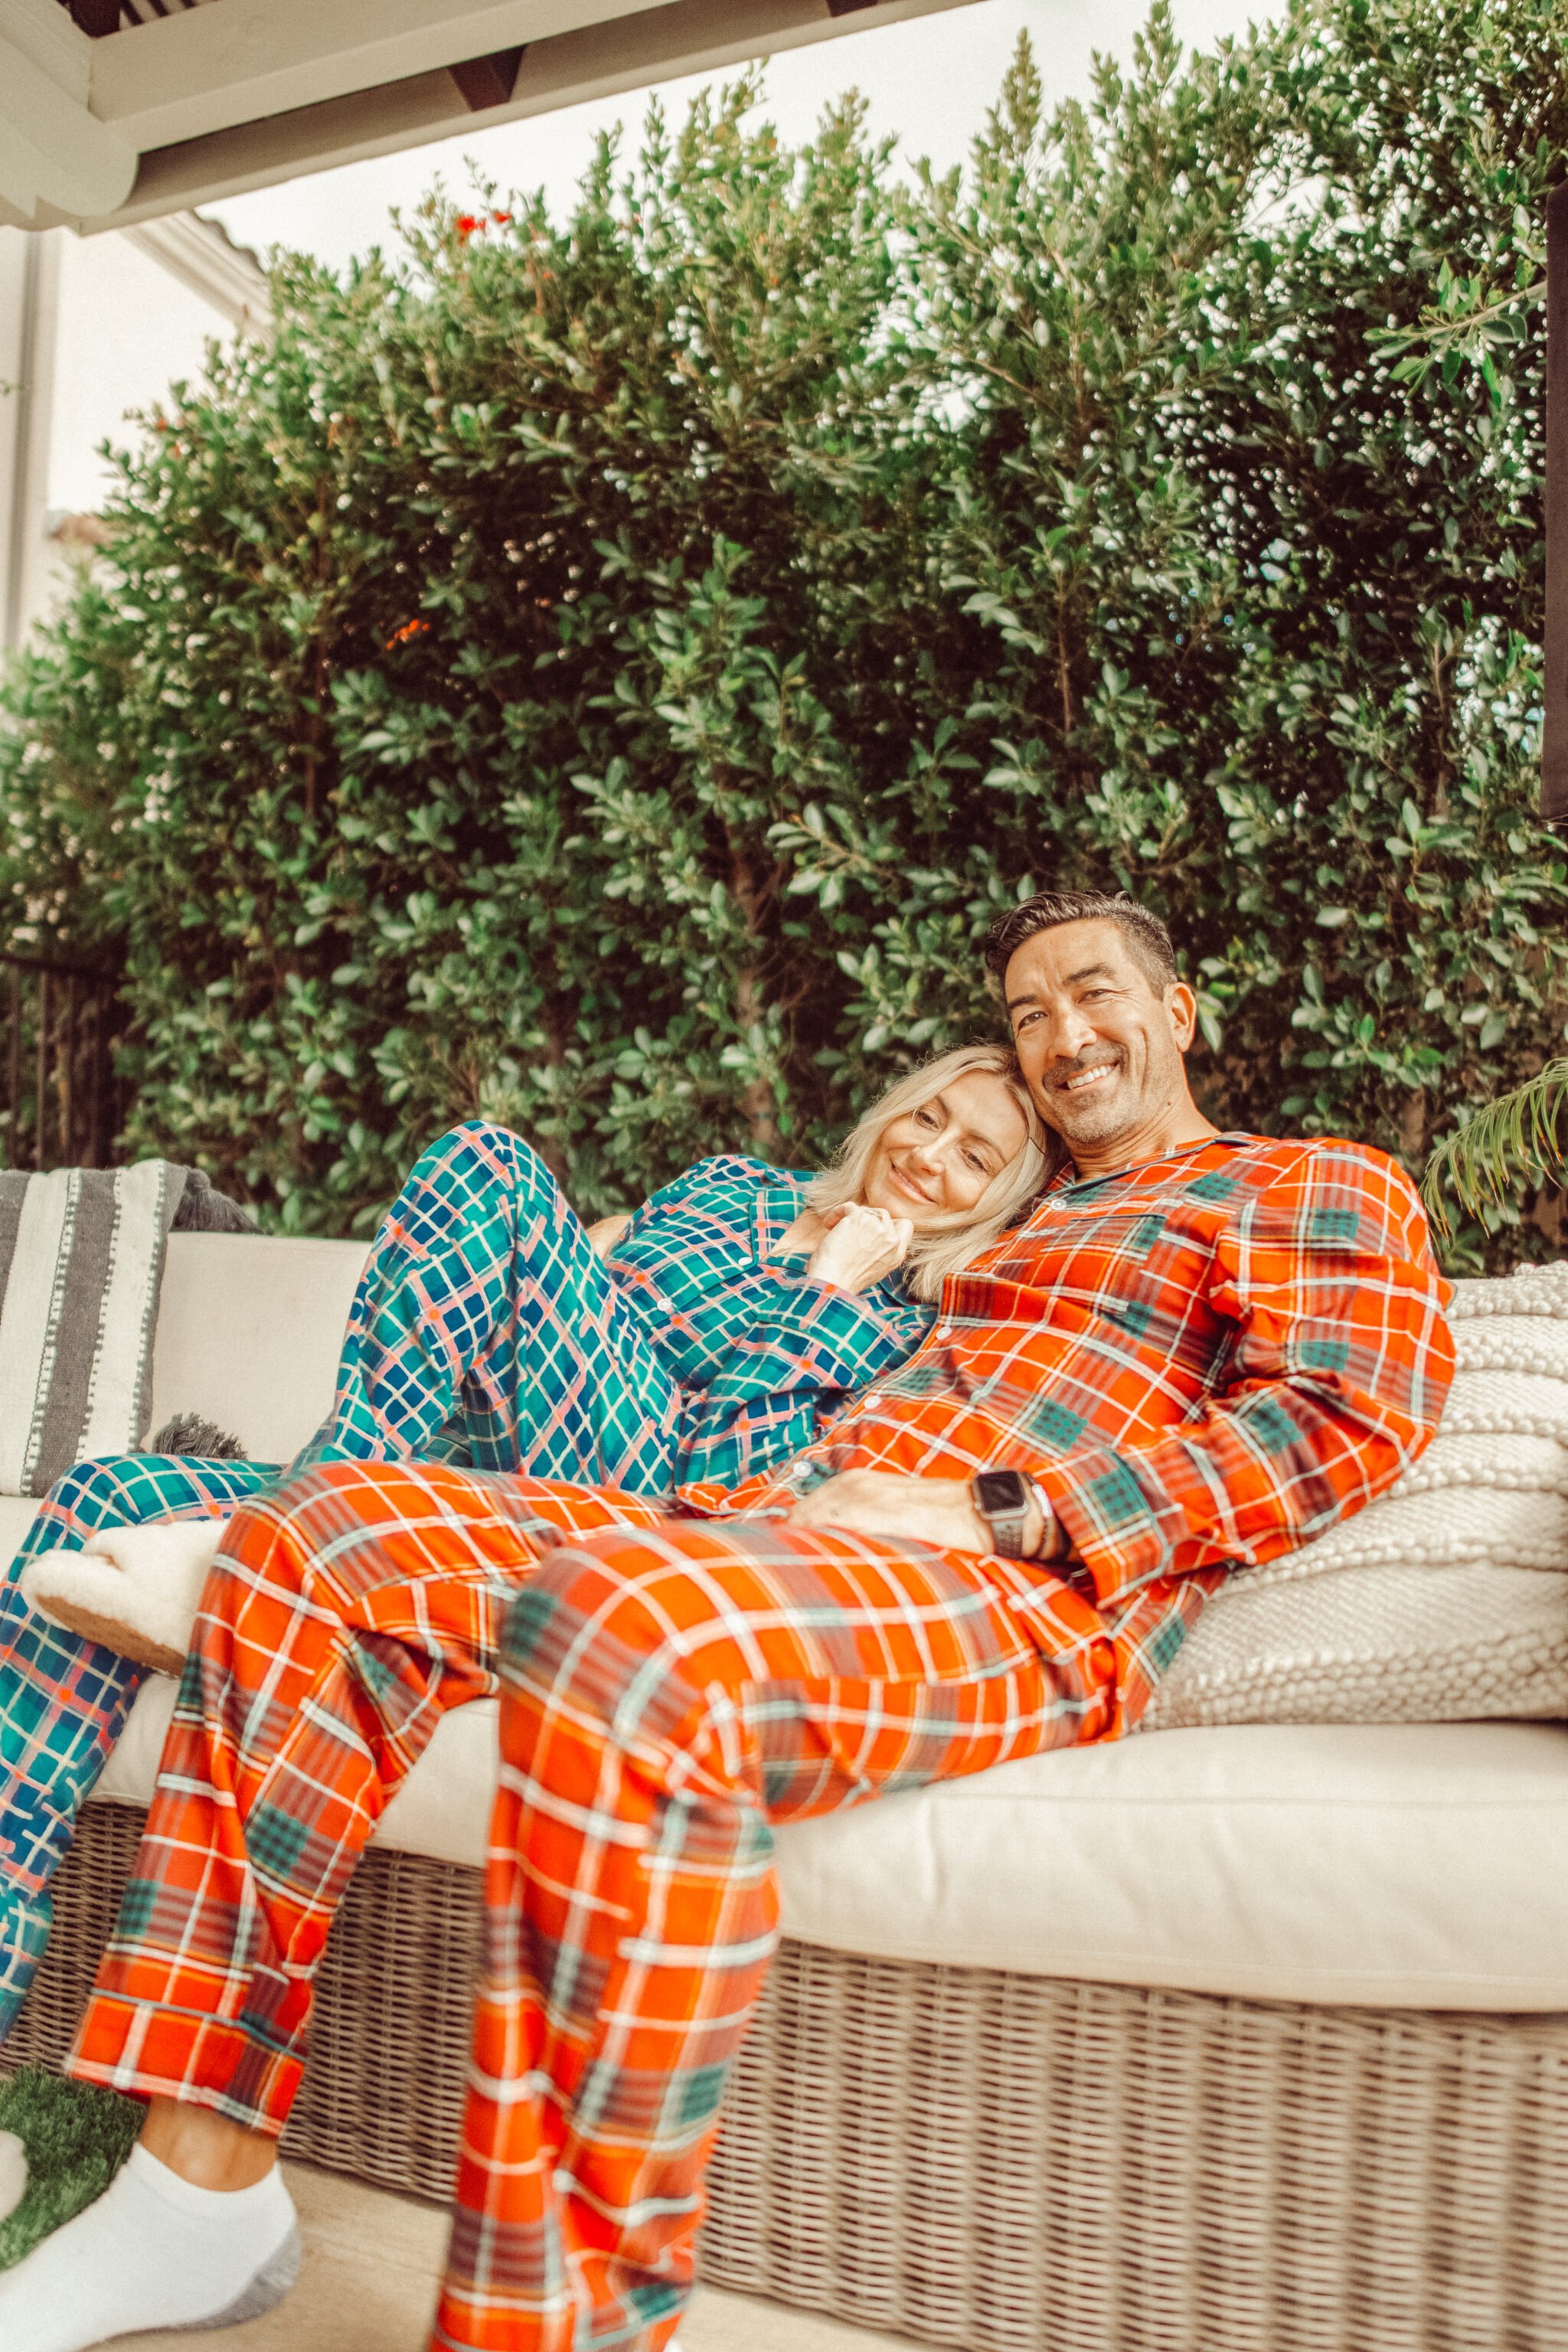
<svg viewBox="0 0 1568 2352">
<path fill-rule="evenodd" d="M 771 1825 L 1110 1736 L 1048 1571 L 435 1465 L 247 1505 L 71 2072 L 277 2133 L 310 1973 L 440 1712 L 501 1790 L 442 2352 L 658 2352 L 776 1943 Z"/>
</svg>

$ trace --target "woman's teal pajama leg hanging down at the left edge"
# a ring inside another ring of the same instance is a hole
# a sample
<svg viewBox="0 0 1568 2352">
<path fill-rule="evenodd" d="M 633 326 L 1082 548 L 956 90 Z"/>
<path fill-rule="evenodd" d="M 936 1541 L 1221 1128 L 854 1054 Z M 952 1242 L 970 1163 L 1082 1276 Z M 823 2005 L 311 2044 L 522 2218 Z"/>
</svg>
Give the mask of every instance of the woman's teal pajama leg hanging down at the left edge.
<svg viewBox="0 0 1568 2352">
<path fill-rule="evenodd" d="M 16 1578 L 38 1552 L 80 1550 L 101 1526 L 202 1519 L 277 1472 L 259 1463 L 127 1456 L 82 1463 L 38 1508 L 0 1585 L 0 2039 L 49 1936 L 47 1886 L 71 1825 L 120 1738 L 141 1668 L 35 1616 Z"/>
</svg>

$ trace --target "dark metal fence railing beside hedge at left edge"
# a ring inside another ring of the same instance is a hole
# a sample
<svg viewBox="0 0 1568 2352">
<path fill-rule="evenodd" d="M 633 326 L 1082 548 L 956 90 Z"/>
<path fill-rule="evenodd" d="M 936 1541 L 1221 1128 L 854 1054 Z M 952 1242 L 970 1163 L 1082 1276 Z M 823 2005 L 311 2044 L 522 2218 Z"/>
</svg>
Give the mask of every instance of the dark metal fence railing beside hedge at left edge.
<svg viewBox="0 0 1568 2352">
<path fill-rule="evenodd" d="M 0 1167 L 110 1167 L 125 1025 L 103 971 L 0 950 Z"/>
</svg>

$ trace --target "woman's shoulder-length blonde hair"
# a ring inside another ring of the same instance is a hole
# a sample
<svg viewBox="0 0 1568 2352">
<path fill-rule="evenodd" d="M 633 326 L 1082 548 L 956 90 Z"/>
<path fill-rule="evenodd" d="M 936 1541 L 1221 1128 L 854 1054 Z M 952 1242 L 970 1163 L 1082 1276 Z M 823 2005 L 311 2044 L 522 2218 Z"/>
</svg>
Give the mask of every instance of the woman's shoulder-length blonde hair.
<svg viewBox="0 0 1568 2352">
<path fill-rule="evenodd" d="M 842 1209 L 860 1200 L 865 1174 L 893 1120 L 919 1110 L 943 1087 L 950 1087 L 957 1077 L 969 1077 L 973 1070 L 985 1070 L 1006 1084 L 1023 1110 L 1027 1131 L 1018 1152 L 1013 1152 L 1004 1169 L 997 1169 L 973 1209 L 954 1209 L 950 1216 L 924 1225 L 910 1242 L 910 1256 L 903 1261 L 903 1268 L 914 1296 L 926 1301 L 940 1298 L 947 1275 L 957 1275 L 961 1265 L 969 1265 L 971 1258 L 978 1258 L 983 1249 L 990 1249 L 1006 1232 L 1018 1211 L 1034 1200 L 1051 1174 L 1053 1138 L 1030 1101 L 1030 1089 L 1023 1082 L 1011 1047 L 961 1044 L 952 1054 L 938 1054 L 924 1070 L 910 1070 L 907 1077 L 896 1080 L 882 1101 L 872 1103 L 858 1127 L 851 1129 L 832 1167 L 823 1169 L 806 1185 L 809 1209 Z"/>
</svg>

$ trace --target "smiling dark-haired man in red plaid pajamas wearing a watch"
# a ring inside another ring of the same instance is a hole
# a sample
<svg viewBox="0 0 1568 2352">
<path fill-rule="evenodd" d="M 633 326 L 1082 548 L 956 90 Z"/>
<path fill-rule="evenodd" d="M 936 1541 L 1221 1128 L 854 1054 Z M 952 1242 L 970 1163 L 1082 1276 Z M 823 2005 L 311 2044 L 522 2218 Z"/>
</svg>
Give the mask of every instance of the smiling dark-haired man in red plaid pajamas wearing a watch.
<svg viewBox="0 0 1568 2352">
<path fill-rule="evenodd" d="M 1192 990 L 1126 898 L 1032 898 L 990 962 L 1070 1164 L 783 1475 L 689 1489 L 677 1517 L 353 1463 L 237 1515 L 71 2063 L 148 2124 L 0 2279 L 7 2352 L 284 2288 L 273 2143 L 310 1969 L 374 1813 L 496 1646 L 435 2345 L 668 2352 L 776 1933 L 771 1823 L 1133 1729 L 1227 1566 L 1321 1534 L 1427 1444 L 1453 1348 L 1401 1171 L 1215 1134 L 1182 1065 Z"/>
</svg>

